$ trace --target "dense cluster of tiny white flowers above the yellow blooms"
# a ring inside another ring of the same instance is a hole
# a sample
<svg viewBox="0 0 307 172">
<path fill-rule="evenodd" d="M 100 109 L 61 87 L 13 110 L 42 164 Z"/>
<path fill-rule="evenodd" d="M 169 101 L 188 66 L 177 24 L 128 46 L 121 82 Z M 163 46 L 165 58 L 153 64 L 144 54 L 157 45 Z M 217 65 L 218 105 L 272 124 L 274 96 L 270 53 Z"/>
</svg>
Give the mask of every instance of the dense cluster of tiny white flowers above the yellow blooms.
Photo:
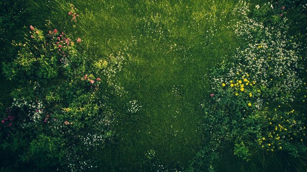
<svg viewBox="0 0 307 172">
<path fill-rule="evenodd" d="M 271 100 L 291 102 L 294 91 L 302 85 L 297 71 L 303 69 L 299 65 L 303 46 L 289 36 L 286 18 L 274 26 L 264 25 L 249 18 L 248 11 L 248 4 L 241 1 L 235 12 L 242 20 L 235 25 L 235 33 L 249 43 L 237 48 L 236 64 L 230 67 L 228 74 L 213 78 L 214 85 L 229 83 L 236 74 L 250 75 L 249 79 L 255 81 L 258 88 L 270 89 L 268 98 Z"/>
</svg>

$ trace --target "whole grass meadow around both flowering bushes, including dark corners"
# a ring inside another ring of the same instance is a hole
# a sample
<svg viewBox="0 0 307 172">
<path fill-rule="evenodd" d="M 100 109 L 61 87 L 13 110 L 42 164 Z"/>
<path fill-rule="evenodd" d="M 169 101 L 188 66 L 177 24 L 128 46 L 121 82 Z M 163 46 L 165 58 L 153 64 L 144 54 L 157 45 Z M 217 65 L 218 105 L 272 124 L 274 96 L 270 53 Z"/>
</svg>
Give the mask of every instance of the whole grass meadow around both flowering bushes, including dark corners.
<svg viewBox="0 0 307 172">
<path fill-rule="evenodd" d="M 267 3 L 248 2 L 251 8 Z M 77 22 L 68 15 L 71 3 L 77 10 Z M 155 158 L 168 171 L 187 169 L 208 142 L 202 103 L 211 101 L 210 71 L 224 61 L 236 63 L 237 48 L 251 42 L 242 41 L 234 31 L 241 20 L 233 14 L 237 0 L 18 0 L 0 4 L 10 5 L 6 8 L 8 21 L 3 17 L 1 24 L 1 62 L 14 59 L 17 49 L 11 41 L 22 42 L 29 25 L 44 31 L 65 30 L 71 38 L 81 38 L 78 50 L 85 63 L 119 59 L 116 65 L 120 70 L 111 78 L 112 86 L 120 92 L 110 100 L 117 112 L 112 126 L 115 139 L 96 157 L 102 172 L 150 171 L 143 163 L 149 150 L 154 150 Z M 283 15 L 299 23 L 291 25 L 289 34 L 305 35 L 306 14 L 296 11 L 295 4 L 287 10 Z M 259 21 L 266 20 L 261 17 Z M 304 43 L 305 38 L 302 40 Z M 300 75 L 303 81 L 305 73 Z M 0 105 L 8 107 L 13 101 L 9 93 L 23 86 L 4 76 L 0 82 Z M 306 94 L 304 89 L 300 94 Z M 304 114 L 303 99 L 293 107 Z M 127 112 L 131 102 L 141 106 L 137 113 Z M 246 162 L 235 156 L 233 149 L 231 144 L 219 147 L 220 159 L 213 162 L 217 172 L 307 169 L 304 155 L 293 158 L 285 152 L 255 151 Z M 3 172 L 16 170 L 14 165 L 2 166 Z"/>
</svg>

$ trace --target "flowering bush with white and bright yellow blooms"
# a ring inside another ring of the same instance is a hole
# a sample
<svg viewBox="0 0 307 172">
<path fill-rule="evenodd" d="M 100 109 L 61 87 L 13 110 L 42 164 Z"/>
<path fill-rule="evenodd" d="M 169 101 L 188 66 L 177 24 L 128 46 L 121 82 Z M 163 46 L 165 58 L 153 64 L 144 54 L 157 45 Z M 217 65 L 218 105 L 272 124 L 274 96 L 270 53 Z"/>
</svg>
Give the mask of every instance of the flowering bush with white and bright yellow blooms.
<svg viewBox="0 0 307 172">
<path fill-rule="evenodd" d="M 267 11 L 276 12 L 273 8 Z M 260 9 L 256 5 L 255 10 Z M 243 1 L 234 10 L 242 19 L 234 31 L 243 44 L 231 61 L 223 61 L 211 72 L 212 93 L 203 104 L 205 135 L 210 141 L 198 155 L 202 160 L 192 163 L 194 167 L 213 171 L 219 147 L 228 144 L 246 161 L 261 150 L 286 151 L 292 156 L 307 150 L 306 120 L 289 104 L 305 84 L 299 76 L 306 51 L 297 39 L 301 35 L 289 35 L 286 17 L 264 24 L 249 17 L 249 11 Z"/>
</svg>

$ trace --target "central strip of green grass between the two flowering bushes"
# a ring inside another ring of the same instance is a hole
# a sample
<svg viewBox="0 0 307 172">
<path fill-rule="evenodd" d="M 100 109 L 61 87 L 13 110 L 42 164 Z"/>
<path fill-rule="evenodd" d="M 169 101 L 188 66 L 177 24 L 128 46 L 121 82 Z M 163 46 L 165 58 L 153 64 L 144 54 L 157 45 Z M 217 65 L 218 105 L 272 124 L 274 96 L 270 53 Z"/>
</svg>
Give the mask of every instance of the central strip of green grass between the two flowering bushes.
<svg viewBox="0 0 307 172">
<path fill-rule="evenodd" d="M 102 150 L 102 171 L 144 170 L 139 162 L 149 149 L 163 165 L 186 167 L 205 142 L 205 74 L 239 46 L 231 28 L 237 1 L 74 0 L 76 24 L 67 15 L 69 2 L 50 1 L 29 0 L 26 25 L 48 29 L 50 21 L 80 37 L 89 60 L 118 51 L 130 57 L 116 78 L 127 91 L 120 101 L 138 100 L 142 110 L 130 115 L 119 107 L 118 144 Z"/>
</svg>

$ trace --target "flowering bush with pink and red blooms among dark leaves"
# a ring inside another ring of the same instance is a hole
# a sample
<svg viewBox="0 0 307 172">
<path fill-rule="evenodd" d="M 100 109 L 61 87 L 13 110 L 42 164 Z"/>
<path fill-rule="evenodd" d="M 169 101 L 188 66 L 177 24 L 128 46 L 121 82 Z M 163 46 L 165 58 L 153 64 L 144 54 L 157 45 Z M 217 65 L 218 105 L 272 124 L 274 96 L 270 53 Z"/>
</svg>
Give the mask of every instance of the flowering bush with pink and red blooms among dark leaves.
<svg viewBox="0 0 307 172">
<path fill-rule="evenodd" d="M 37 161 L 38 171 L 95 169 L 100 150 L 113 142 L 116 111 L 109 98 L 116 84 L 108 74 L 116 69 L 106 69 L 106 60 L 93 64 L 80 58 L 81 39 L 75 43 L 57 29 L 45 34 L 31 25 L 25 40 L 15 44 L 18 57 L 3 64 L 6 77 L 20 89 L 12 92 L 13 103 L 1 116 L 1 147 L 16 137 L 31 143 L 16 153 L 20 167 Z M 112 60 L 109 65 L 116 66 Z"/>
</svg>

